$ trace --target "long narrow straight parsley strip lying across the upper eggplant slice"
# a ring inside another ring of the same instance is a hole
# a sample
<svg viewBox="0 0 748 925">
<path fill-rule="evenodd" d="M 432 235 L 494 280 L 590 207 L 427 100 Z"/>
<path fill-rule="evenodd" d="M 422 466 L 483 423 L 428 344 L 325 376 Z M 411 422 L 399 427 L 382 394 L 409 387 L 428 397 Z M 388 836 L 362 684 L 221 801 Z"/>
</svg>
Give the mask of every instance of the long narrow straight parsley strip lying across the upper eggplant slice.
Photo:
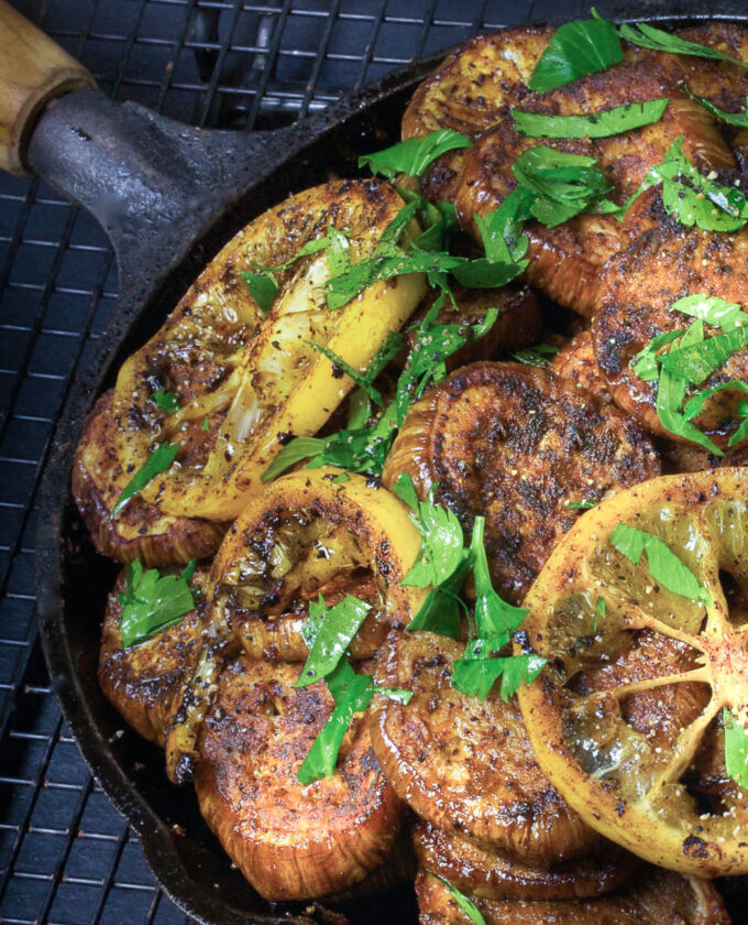
<svg viewBox="0 0 748 925">
<path fill-rule="evenodd" d="M 542 116 L 521 109 L 510 111 L 517 131 L 532 138 L 609 138 L 658 122 L 669 102 L 667 98 L 630 102 L 588 116 Z"/>
</svg>

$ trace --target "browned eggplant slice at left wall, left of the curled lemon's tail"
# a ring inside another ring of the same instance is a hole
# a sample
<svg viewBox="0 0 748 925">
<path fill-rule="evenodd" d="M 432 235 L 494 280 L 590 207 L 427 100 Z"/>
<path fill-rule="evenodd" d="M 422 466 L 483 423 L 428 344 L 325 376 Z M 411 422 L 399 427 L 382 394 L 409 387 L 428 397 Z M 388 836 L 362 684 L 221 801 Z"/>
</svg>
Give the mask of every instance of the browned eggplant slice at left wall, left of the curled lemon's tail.
<svg viewBox="0 0 748 925">
<path fill-rule="evenodd" d="M 167 572 L 177 574 L 179 569 Z M 191 587 L 198 598 L 208 584 L 209 566 L 195 570 Z M 183 671 L 197 644 L 200 624 L 193 610 L 153 639 L 122 648 L 120 594 L 124 591 L 124 570 L 109 594 L 101 624 L 99 686 L 134 729 L 157 746 L 164 746 L 166 730 L 178 707 Z"/>
</svg>

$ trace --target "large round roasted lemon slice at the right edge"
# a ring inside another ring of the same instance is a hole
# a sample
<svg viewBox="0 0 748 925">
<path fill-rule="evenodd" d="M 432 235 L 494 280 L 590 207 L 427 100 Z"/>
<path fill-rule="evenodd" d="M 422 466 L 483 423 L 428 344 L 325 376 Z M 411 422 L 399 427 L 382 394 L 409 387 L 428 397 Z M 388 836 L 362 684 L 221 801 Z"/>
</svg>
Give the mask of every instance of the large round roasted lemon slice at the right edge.
<svg viewBox="0 0 748 925">
<path fill-rule="evenodd" d="M 517 643 L 549 660 L 519 701 L 553 785 L 603 835 L 702 877 L 748 871 L 723 726 L 748 708 L 747 499 L 732 468 L 603 502 L 540 573 Z"/>
</svg>

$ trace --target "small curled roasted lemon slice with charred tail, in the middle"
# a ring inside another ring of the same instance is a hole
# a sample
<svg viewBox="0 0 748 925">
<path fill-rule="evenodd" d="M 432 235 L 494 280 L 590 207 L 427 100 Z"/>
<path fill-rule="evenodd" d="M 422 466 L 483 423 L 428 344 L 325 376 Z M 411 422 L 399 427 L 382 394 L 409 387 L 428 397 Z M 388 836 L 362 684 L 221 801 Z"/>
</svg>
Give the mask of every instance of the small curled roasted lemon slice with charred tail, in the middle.
<svg viewBox="0 0 748 925">
<path fill-rule="evenodd" d="M 341 469 L 293 472 L 254 496 L 213 562 L 204 644 L 185 668 L 182 707 L 167 736 L 172 779 L 189 776 L 197 731 L 227 655 L 241 644 L 254 659 L 302 662 L 309 602 L 321 595 L 333 607 L 351 595 L 370 610 L 350 654 L 370 657 L 424 601 L 425 590 L 400 585 L 420 544 L 394 494 Z"/>
</svg>

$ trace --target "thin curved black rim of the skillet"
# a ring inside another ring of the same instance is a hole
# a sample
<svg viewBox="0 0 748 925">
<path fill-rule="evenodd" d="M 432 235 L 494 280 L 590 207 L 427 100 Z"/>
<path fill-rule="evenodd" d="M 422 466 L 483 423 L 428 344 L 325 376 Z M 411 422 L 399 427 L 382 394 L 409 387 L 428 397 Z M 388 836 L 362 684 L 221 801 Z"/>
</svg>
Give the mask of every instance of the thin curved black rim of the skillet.
<svg viewBox="0 0 748 925">
<path fill-rule="evenodd" d="M 689 25 L 704 21 L 727 21 L 748 26 L 748 12 L 702 13 L 689 10 L 672 10 L 649 12 L 647 15 L 632 18 L 630 11 L 625 15 L 614 17 L 616 21 L 647 21 L 657 22 L 664 26 Z M 549 24 L 547 21 L 534 21 L 503 26 L 492 32 L 506 29 L 532 28 Z M 556 24 L 556 23 L 552 23 Z M 477 33 L 481 34 L 481 33 Z M 470 36 L 473 37 L 473 36 Z M 469 41 L 469 40 L 465 40 Z M 273 167 L 265 171 L 249 188 L 242 192 L 233 204 L 228 206 L 218 219 L 226 219 L 228 215 L 242 211 L 242 205 L 256 195 L 257 191 L 273 185 L 273 181 L 293 165 L 304 161 L 305 154 L 323 141 L 327 137 L 334 138 L 343 133 L 351 124 L 355 124 L 360 117 L 366 116 L 378 106 L 393 105 L 398 95 L 413 91 L 418 83 L 428 76 L 433 68 L 451 52 L 460 47 L 450 46 L 443 51 L 411 62 L 397 68 L 373 84 L 367 85 L 358 94 L 348 96 L 341 101 L 328 107 L 322 112 L 304 120 L 301 126 L 307 129 L 305 140 L 296 143 L 286 156 Z M 207 265 L 220 243 L 229 240 L 231 235 L 248 220 L 260 214 L 262 208 L 250 209 L 250 217 L 244 215 L 242 221 L 233 230 L 219 232 L 220 240 L 213 241 L 215 247 L 199 258 L 201 266 Z M 218 224 L 218 222 L 217 222 Z M 193 243 L 190 251 L 200 250 L 207 239 L 215 236 L 216 224 Z M 131 781 L 122 765 L 118 762 L 111 744 L 102 733 L 92 709 L 81 686 L 76 657 L 70 649 L 67 618 L 65 616 L 63 587 L 68 567 L 69 545 L 77 544 L 82 537 L 66 535 L 66 513 L 69 510 L 70 474 L 73 456 L 77 446 L 86 415 L 92 407 L 98 395 L 107 388 L 107 380 L 112 379 L 112 371 L 121 362 L 121 353 L 127 340 L 133 337 L 133 331 L 143 326 L 144 316 L 153 303 L 158 303 L 160 296 L 166 291 L 176 289 L 182 293 L 194 276 L 188 275 L 186 284 L 179 280 L 179 270 L 189 263 L 183 259 L 168 273 L 167 279 L 157 283 L 151 292 L 142 298 L 129 298 L 128 293 L 118 296 L 117 320 L 103 335 L 96 350 L 92 352 L 87 368 L 73 379 L 67 399 L 58 416 L 51 436 L 52 450 L 44 467 L 40 485 L 40 525 L 35 543 L 35 614 L 38 623 L 40 641 L 44 659 L 50 672 L 51 686 L 62 707 L 65 721 L 70 728 L 73 737 L 86 761 L 91 774 L 99 783 L 108 799 L 125 818 L 135 831 L 143 848 L 146 861 L 157 881 L 157 884 L 187 915 L 201 925 L 310 925 L 311 922 L 327 921 L 309 918 L 306 915 L 288 916 L 274 915 L 272 912 L 253 913 L 241 910 L 234 904 L 221 899 L 220 893 L 210 893 L 196 881 L 187 871 L 175 846 L 175 833 L 162 816 L 154 809 L 147 797 L 141 792 L 135 781 Z M 199 270 L 197 271 L 199 272 Z M 184 274 L 183 274 L 184 275 Z M 174 278 L 177 278 L 176 281 Z M 167 304 L 174 305 L 176 298 L 172 295 Z M 120 308 L 122 306 L 122 309 Z M 168 312 L 168 307 L 162 309 Z M 142 336 L 142 331 L 141 331 Z M 82 538 L 84 544 L 90 542 Z M 88 551 L 96 564 L 98 554 L 92 546 Z M 98 557 L 101 561 L 103 557 Z M 99 614 L 96 619 L 98 620 Z M 222 848 L 219 846 L 222 852 Z M 744 894 L 744 897 L 748 892 Z M 304 904 L 308 906 L 309 904 Z M 316 904 L 312 904 L 316 906 Z M 323 915 L 323 910 L 322 910 Z"/>
</svg>

